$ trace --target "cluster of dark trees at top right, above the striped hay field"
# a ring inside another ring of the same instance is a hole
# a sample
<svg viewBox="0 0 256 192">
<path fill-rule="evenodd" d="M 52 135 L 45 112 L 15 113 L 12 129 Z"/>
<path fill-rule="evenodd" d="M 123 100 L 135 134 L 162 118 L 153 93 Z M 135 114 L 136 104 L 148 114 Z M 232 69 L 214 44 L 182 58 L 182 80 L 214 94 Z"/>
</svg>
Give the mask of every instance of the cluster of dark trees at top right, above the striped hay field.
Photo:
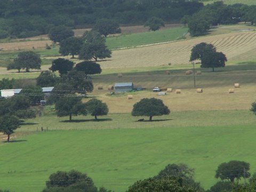
<svg viewBox="0 0 256 192">
<path fill-rule="evenodd" d="M 214 2 L 203 7 L 193 15 L 185 15 L 180 20 L 183 24 L 188 24 L 191 36 L 206 34 L 210 26 L 219 24 L 235 24 L 238 22 L 256 22 L 256 6 L 233 4 L 226 5 L 222 1 Z"/>
</svg>

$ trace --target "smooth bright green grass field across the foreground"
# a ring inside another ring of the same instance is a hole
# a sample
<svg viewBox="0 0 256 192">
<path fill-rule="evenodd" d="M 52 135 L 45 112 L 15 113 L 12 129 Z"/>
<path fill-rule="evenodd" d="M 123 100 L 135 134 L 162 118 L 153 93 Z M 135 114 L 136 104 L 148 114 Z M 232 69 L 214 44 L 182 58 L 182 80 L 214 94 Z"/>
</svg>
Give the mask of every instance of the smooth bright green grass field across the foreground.
<svg viewBox="0 0 256 192">
<path fill-rule="evenodd" d="M 2 145 L 0 188 L 40 191 L 58 170 L 86 172 L 97 186 L 125 191 L 169 163 L 195 168 L 209 188 L 222 162 L 241 160 L 255 168 L 254 126 L 69 130 L 38 132 Z"/>
</svg>

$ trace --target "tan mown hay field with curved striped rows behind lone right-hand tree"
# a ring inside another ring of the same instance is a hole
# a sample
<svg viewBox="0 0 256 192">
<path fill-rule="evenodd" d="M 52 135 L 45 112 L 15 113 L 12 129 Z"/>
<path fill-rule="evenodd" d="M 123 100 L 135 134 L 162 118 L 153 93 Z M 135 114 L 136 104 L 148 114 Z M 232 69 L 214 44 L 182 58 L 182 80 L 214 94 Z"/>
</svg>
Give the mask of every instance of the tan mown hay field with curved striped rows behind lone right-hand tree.
<svg viewBox="0 0 256 192">
<path fill-rule="evenodd" d="M 213 44 L 231 62 L 256 59 L 252 51 L 256 49 L 256 32 L 246 31 L 113 51 L 112 57 L 100 64 L 103 69 L 187 64 L 191 48 L 202 42 Z"/>
</svg>

